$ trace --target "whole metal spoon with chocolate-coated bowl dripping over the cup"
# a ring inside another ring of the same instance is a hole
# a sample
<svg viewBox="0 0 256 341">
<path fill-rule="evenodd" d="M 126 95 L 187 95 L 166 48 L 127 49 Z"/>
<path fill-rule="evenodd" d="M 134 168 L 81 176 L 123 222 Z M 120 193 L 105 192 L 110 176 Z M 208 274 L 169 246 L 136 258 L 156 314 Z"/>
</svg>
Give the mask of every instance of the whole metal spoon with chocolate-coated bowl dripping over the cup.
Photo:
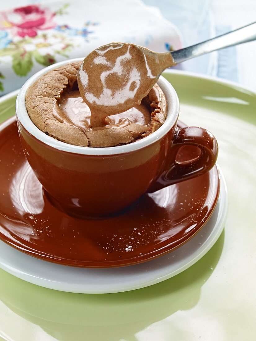
<svg viewBox="0 0 256 341">
<path fill-rule="evenodd" d="M 256 23 L 181 50 L 156 53 L 145 47 L 111 43 L 93 50 L 78 70 L 78 87 L 91 110 L 91 127 L 109 115 L 140 104 L 161 73 L 182 61 L 256 39 Z"/>
</svg>

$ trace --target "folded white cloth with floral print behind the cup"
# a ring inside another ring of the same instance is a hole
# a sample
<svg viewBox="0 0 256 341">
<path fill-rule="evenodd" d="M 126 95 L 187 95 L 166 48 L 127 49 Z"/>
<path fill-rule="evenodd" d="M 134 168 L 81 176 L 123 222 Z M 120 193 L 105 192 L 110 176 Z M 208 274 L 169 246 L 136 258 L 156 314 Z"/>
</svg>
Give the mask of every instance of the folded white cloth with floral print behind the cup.
<svg viewBox="0 0 256 341">
<path fill-rule="evenodd" d="M 181 47 L 177 29 L 139 0 L 71 0 L 0 12 L 0 95 L 21 87 L 35 72 L 85 57 L 112 41 L 164 52 Z"/>
</svg>

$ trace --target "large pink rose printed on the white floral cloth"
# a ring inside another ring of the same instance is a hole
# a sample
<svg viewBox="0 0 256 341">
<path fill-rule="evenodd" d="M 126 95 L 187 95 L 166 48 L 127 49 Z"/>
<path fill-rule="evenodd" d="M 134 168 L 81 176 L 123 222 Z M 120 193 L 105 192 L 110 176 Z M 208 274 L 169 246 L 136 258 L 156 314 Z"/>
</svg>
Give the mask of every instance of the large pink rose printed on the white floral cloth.
<svg viewBox="0 0 256 341">
<path fill-rule="evenodd" d="M 18 19 L 12 19 L 13 14 L 18 14 Z M 37 30 L 47 30 L 55 28 L 53 21 L 55 13 L 48 8 L 40 8 L 38 5 L 19 7 L 13 11 L 0 13 L 0 29 L 10 29 L 15 36 L 22 38 L 25 36 L 34 37 Z"/>
</svg>

